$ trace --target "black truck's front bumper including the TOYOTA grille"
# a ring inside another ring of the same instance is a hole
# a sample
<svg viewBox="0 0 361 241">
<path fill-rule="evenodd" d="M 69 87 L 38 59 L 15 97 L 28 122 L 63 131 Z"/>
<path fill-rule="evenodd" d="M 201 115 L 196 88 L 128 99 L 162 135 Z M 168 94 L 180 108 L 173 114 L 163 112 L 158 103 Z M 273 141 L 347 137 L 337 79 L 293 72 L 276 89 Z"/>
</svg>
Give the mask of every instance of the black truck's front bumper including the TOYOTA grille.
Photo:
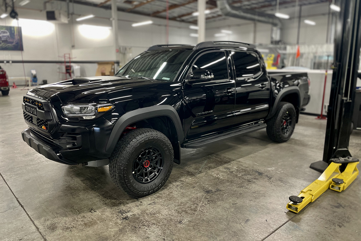
<svg viewBox="0 0 361 241">
<path fill-rule="evenodd" d="M 63 118 L 60 123 L 61 114 L 57 113 L 56 101 L 24 96 L 23 115 L 29 128 L 22 131 L 23 140 L 46 158 L 63 164 L 75 165 L 109 158 L 111 151 L 107 152 L 105 148 L 114 124 L 104 117 L 65 122 Z M 35 114 L 28 112 L 26 106 L 35 109 Z"/>
</svg>

